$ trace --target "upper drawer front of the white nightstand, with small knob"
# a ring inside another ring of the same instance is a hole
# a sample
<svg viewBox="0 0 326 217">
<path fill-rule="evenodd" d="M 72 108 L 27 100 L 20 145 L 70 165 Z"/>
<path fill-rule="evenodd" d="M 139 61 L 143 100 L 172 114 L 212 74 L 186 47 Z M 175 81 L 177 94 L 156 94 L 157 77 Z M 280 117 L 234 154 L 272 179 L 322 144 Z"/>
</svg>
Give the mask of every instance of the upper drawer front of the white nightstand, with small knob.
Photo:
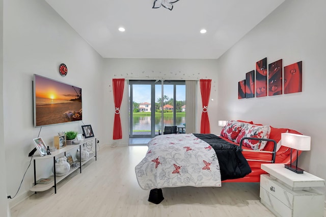
<svg viewBox="0 0 326 217">
<path fill-rule="evenodd" d="M 276 180 L 271 179 L 269 175 L 260 176 L 260 187 L 265 189 L 266 193 L 273 195 L 287 207 L 293 209 L 293 194 L 290 189 L 278 183 Z"/>
</svg>

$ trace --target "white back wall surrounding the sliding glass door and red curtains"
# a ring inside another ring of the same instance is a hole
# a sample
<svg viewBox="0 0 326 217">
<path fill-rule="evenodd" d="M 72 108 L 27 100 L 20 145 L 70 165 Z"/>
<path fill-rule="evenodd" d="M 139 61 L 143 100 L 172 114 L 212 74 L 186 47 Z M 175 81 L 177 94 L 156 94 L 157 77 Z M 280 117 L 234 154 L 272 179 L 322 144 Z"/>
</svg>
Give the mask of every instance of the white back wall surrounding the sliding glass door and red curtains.
<svg viewBox="0 0 326 217">
<path fill-rule="evenodd" d="M 121 104 L 120 116 L 122 122 L 122 139 L 113 141 L 113 117 L 115 107 L 113 103 L 112 79 L 212 79 L 210 101 L 208 105 L 208 116 L 211 121 L 211 130 L 217 127 L 216 120 L 216 60 L 183 60 L 183 59 L 105 59 L 105 75 L 103 77 L 103 87 L 105 92 L 104 122 L 108 123 L 105 129 L 108 130 L 104 136 L 104 141 L 117 142 L 118 145 L 127 145 L 129 141 L 129 111 L 128 96 L 129 87 L 125 84 L 123 102 Z M 111 86 L 111 87 L 109 87 Z M 201 117 L 201 94 L 198 84 L 198 125 L 200 131 Z"/>
</svg>

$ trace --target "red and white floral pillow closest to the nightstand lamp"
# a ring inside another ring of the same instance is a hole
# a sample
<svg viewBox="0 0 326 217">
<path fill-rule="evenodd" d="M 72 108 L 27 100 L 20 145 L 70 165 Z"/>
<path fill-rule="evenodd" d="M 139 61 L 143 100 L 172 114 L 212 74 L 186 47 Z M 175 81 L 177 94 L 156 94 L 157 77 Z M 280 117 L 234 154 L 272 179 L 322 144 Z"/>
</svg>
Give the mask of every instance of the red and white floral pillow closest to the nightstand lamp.
<svg viewBox="0 0 326 217">
<path fill-rule="evenodd" d="M 270 126 L 258 126 L 255 124 L 247 124 L 246 127 L 243 127 L 241 132 L 236 138 L 236 143 L 240 144 L 240 140 L 244 137 L 253 137 L 260 139 L 268 139 L 270 134 Z M 253 150 L 263 150 L 267 141 L 258 141 L 258 140 L 244 140 L 243 146 L 251 148 Z"/>
</svg>

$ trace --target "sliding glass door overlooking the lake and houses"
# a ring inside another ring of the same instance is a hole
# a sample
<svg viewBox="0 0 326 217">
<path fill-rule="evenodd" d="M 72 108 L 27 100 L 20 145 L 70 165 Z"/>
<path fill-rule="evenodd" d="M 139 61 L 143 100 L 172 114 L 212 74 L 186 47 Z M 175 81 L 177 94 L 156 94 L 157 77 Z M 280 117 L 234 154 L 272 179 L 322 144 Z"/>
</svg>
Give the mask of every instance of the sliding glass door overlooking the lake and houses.
<svg viewBox="0 0 326 217">
<path fill-rule="evenodd" d="M 185 124 L 184 81 L 129 80 L 129 99 L 130 138 L 155 137 L 165 126 Z"/>
</svg>

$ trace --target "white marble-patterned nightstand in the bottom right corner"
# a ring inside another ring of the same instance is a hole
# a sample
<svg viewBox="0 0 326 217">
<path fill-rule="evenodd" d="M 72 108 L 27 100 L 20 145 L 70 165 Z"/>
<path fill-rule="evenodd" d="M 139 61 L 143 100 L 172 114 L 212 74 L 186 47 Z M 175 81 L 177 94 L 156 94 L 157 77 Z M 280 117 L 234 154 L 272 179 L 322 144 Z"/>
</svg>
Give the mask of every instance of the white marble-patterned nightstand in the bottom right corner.
<svg viewBox="0 0 326 217">
<path fill-rule="evenodd" d="M 324 193 L 313 187 L 325 180 L 306 171 L 294 173 L 284 164 L 262 164 L 269 174 L 260 175 L 260 202 L 277 216 L 323 216 Z"/>
</svg>

